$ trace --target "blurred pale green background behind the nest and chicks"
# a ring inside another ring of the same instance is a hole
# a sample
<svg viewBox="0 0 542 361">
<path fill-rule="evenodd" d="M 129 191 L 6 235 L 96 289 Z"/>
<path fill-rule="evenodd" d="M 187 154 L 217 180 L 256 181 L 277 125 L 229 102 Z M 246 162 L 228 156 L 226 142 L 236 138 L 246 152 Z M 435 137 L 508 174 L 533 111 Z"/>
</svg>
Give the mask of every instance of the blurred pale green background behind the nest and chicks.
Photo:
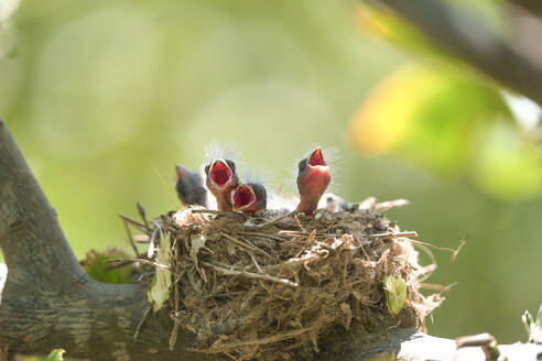
<svg viewBox="0 0 542 361">
<path fill-rule="evenodd" d="M 497 8 L 474 11 L 499 26 Z M 137 201 L 180 208 L 174 165 L 199 167 L 212 142 L 292 194 L 307 149 L 334 146 L 334 193 L 408 198 L 388 212 L 402 229 L 466 239 L 430 332 L 523 340 L 542 300 L 539 149 L 495 84 L 382 41 L 403 25 L 379 17 L 337 0 L 24 0 L 0 36 L 0 118 L 78 258 L 127 248 L 117 214 Z"/>
</svg>

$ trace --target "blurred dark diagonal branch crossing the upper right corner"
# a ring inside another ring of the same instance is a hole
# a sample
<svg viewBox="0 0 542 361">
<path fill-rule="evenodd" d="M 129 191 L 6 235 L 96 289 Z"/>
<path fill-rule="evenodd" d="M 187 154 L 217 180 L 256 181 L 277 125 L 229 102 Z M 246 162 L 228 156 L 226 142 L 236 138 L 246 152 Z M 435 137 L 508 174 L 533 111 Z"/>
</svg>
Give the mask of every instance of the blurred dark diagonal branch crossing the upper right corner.
<svg viewBox="0 0 542 361">
<path fill-rule="evenodd" d="M 443 52 L 542 105 L 542 64 L 445 1 L 372 0 L 410 21 Z"/>
</svg>

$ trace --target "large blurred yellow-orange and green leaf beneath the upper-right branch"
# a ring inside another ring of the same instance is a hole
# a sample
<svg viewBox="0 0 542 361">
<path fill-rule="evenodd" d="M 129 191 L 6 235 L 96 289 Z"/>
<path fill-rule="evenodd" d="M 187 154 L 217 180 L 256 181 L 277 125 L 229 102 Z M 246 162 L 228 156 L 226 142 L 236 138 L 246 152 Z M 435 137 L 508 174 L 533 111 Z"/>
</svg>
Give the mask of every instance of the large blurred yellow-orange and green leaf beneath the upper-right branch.
<svg viewBox="0 0 542 361">
<path fill-rule="evenodd" d="M 457 175 L 476 151 L 480 124 L 510 118 L 492 86 L 448 67 L 411 65 L 386 78 L 350 122 L 366 154 L 392 154 L 440 175 Z"/>
</svg>

